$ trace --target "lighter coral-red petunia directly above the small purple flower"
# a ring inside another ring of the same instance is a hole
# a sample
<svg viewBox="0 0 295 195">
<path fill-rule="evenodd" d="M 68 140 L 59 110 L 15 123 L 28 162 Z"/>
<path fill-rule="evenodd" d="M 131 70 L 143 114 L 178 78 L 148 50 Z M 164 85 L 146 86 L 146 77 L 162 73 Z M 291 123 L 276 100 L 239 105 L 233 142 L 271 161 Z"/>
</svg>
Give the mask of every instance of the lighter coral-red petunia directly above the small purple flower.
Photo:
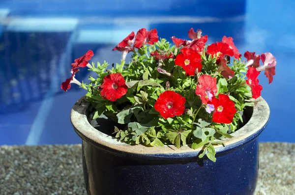
<svg viewBox="0 0 295 195">
<path fill-rule="evenodd" d="M 207 104 L 217 93 L 216 78 L 210 75 L 202 75 L 198 79 L 196 94 L 200 96 L 202 103 Z"/>
</svg>

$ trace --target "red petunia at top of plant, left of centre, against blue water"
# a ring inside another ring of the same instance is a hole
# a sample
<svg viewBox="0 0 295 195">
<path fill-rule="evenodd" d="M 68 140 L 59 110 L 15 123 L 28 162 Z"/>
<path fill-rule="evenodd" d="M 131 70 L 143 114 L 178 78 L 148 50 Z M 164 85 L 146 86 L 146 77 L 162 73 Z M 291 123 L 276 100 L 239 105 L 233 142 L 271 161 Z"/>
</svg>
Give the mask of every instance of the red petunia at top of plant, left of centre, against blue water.
<svg viewBox="0 0 295 195">
<path fill-rule="evenodd" d="M 159 40 L 157 33 L 158 32 L 155 28 L 150 31 L 147 31 L 146 28 L 142 28 L 138 30 L 135 36 L 135 41 L 133 46 L 136 48 L 141 48 L 143 46 L 143 43 L 153 45 Z"/>
</svg>

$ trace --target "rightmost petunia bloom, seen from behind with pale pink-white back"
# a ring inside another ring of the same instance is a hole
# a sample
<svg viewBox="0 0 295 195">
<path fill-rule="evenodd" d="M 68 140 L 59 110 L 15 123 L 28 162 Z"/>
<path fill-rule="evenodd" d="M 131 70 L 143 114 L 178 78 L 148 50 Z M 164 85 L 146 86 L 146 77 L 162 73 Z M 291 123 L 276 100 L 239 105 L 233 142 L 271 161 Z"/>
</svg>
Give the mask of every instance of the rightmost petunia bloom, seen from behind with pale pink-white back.
<svg viewBox="0 0 295 195">
<path fill-rule="evenodd" d="M 275 75 L 276 59 L 271 53 L 267 52 L 261 55 L 262 66 L 257 67 L 258 71 L 265 71 L 265 75 L 268 78 L 268 84 L 273 81 L 273 76 Z"/>
</svg>

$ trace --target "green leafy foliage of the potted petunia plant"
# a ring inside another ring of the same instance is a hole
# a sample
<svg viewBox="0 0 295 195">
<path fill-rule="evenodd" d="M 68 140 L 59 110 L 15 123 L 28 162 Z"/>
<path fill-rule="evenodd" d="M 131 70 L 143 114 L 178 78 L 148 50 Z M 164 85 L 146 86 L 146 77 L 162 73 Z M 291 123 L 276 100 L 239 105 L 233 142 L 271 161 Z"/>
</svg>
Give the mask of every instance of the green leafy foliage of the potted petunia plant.
<svg viewBox="0 0 295 195">
<path fill-rule="evenodd" d="M 236 114 L 231 124 L 219 124 L 212 122 L 212 113 L 205 111 L 200 97 L 195 94 L 198 79 L 195 76 L 186 76 L 180 66 L 176 66 L 174 59 L 162 61 L 161 68 L 172 74 L 173 77 L 160 74 L 157 71 L 158 61 L 149 54 L 155 50 L 162 52 L 171 51 L 179 54 L 179 50 L 171 46 L 165 39 L 160 39 L 153 46 L 144 45 L 139 50 L 132 52 L 132 60 L 125 63 L 117 63 L 108 69 L 109 64 L 92 63 L 92 72 L 96 77 L 89 76 L 89 84 L 82 83 L 88 93 L 87 97 L 95 111 L 93 119 L 105 114 L 119 124 L 126 124 L 123 129 L 115 128 L 115 137 L 128 144 L 144 144 L 146 146 L 164 146 L 174 144 L 177 148 L 181 145 L 190 144 L 193 149 L 202 148 L 199 158 L 215 162 L 214 145 L 223 144 L 222 139 L 233 138 L 230 133 L 239 128 L 243 122 L 242 113 L 247 106 L 253 106 L 250 101 L 251 88 L 245 83 L 245 72 L 247 68 L 241 60 L 234 59 L 229 63 L 235 76 L 231 79 L 224 78 L 216 72 L 219 65 L 216 64 L 216 56 L 202 56 L 202 71 L 199 75 L 211 75 L 217 79 L 219 93 L 229 95 L 236 106 Z M 105 76 L 111 73 L 120 73 L 128 87 L 125 96 L 116 102 L 103 99 L 99 87 Z M 186 99 L 184 114 L 173 118 L 164 119 L 154 109 L 155 101 L 159 95 L 167 89 L 173 90 Z M 198 122 L 196 122 L 198 121 Z"/>
</svg>

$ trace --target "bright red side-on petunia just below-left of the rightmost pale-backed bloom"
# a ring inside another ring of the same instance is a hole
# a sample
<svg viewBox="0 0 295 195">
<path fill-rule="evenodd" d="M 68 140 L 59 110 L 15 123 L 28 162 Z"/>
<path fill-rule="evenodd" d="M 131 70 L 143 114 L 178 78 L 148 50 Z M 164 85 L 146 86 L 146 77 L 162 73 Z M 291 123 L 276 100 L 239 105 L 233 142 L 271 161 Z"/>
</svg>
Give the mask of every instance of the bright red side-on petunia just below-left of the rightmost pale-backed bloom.
<svg viewBox="0 0 295 195">
<path fill-rule="evenodd" d="M 259 80 L 257 79 L 260 72 L 256 70 L 254 67 L 249 67 L 247 71 L 247 80 L 246 83 L 251 87 L 252 91 L 252 98 L 257 99 L 261 96 L 261 90 L 262 86 L 259 83 Z"/>
</svg>

